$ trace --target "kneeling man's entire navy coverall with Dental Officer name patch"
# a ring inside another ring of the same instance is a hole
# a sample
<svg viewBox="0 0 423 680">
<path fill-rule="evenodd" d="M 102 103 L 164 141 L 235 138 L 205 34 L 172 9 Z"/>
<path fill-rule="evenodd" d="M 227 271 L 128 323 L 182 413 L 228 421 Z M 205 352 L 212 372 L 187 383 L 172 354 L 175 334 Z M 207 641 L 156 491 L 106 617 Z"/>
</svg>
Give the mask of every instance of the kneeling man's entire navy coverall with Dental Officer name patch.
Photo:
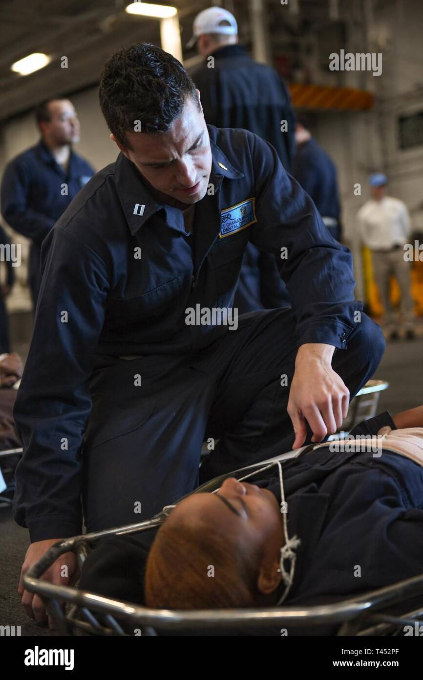
<svg viewBox="0 0 423 680">
<path fill-rule="evenodd" d="M 31 541 L 79 534 L 81 492 L 89 531 L 151 517 L 195 488 L 205 436 L 220 439 L 202 467 L 210 476 L 222 461 L 234 469 L 289 449 L 299 345 L 337 347 L 332 365 L 352 396 L 380 362 L 380 328 L 356 322 L 351 253 L 308 194 L 259 137 L 208 132 L 210 190 L 192 233 L 119 154 L 43 243 L 14 410 L 24 447 L 14 517 Z M 190 307 L 232 306 L 250 241 L 276 258 L 288 249 L 278 264 L 292 310 L 246 314 L 237 330 L 187 325 Z"/>
</svg>

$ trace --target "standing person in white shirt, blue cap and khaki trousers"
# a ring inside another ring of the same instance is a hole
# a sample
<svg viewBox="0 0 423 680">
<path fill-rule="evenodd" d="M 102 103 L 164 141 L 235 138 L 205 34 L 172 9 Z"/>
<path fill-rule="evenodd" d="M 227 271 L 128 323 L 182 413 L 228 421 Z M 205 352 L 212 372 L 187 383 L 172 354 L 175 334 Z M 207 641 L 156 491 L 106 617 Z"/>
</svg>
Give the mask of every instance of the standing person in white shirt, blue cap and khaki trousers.
<svg viewBox="0 0 423 680">
<path fill-rule="evenodd" d="M 414 303 L 411 297 L 410 263 L 404 259 L 404 245 L 409 239 L 411 226 L 407 206 L 399 199 L 386 196 L 388 178 L 382 173 L 369 177 L 371 199 L 357 213 L 361 239 L 371 250 L 373 276 L 378 285 L 380 301 L 384 306 L 381 325 L 390 340 L 398 340 L 400 332 L 412 340 L 414 334 Z M 401 290 L 400 315 L 390 302 L 389 279 L 393 274 Z"/>
</svg>

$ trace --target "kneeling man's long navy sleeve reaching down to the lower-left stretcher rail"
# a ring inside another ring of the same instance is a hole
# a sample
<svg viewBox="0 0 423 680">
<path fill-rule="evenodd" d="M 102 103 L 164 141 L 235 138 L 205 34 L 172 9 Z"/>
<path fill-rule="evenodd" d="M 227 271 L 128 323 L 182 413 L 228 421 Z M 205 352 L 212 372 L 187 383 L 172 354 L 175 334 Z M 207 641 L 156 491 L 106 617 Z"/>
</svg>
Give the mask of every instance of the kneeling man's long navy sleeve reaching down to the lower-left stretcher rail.
<svg viewBox="0 0 423 680">
<path fill-rule="evenodd" d="M 81 441 L 91 409 L 88 377 L 103 327 L 103 260 L 54 228 L 29 357 L 14 417 L 24 448 L 14 517 L 31 541 L 81 533 Z"/>
</svg>

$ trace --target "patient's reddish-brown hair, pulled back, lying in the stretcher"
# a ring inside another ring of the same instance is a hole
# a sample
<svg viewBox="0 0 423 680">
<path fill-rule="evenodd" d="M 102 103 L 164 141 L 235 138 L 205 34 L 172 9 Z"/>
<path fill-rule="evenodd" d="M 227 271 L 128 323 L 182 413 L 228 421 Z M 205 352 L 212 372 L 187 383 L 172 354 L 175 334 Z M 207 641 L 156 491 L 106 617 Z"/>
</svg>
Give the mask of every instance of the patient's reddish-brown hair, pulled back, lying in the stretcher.
<svg viewBox="0 0 423 680">
<path fill-rule="evenodd" d="M 259 556 L 240 550 L 232 534 L 166 520 L 149 552 L 145 603 L 157 609 L 253 607 L 262 601 L 258 574 Z"/>
</svg>

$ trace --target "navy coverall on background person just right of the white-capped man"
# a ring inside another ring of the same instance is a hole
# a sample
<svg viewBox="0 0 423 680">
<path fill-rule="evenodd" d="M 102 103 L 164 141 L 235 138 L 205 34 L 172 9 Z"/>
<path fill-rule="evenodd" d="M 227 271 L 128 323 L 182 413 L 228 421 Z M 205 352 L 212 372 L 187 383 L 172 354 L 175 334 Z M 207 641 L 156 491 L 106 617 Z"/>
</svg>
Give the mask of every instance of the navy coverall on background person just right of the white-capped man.
<svg viewBox="0 0 423 680">
<path fill-rule="evenodd" d="M 341 224 L 337 171 L 331 157 L 309 139 L 297 146 L 293 159 L 292 174 L 295 180 L 312 197 L 322 218 L 332 218 L 337 225 L 328 226 L 331 235 L 339 241 Z"/>
</svg>

